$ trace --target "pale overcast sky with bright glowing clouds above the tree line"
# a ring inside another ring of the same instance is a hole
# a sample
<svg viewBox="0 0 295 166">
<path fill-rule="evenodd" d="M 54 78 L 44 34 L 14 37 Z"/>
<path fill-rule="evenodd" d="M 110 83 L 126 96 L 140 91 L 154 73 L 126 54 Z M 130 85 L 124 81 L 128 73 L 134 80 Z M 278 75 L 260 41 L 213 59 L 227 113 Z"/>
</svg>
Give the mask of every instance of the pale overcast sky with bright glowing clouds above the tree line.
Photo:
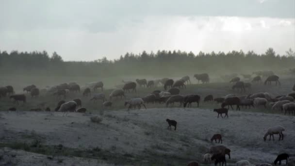
<svg viewBox="0 0 295 166">
<path fill-rule="evenodd" d="M 0 0 L 0 50 L 91 61 L 146 50 L 295 50 L 295 0 Z"/>
</svg>

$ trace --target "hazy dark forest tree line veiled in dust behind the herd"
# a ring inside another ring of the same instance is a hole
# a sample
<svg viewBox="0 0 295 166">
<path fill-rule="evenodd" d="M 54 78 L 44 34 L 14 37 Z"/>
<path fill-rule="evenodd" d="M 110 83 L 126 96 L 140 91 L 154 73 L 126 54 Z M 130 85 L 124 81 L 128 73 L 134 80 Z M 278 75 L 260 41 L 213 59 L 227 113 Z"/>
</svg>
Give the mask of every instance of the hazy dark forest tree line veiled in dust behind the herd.
<svg viewBox="0 0 295 166">
<path fill-rule="evenodd" d="M 7 53 L 0 51 L 1 74 L 71 75 L 108 77 L 117 75 L 173 75 L 184 73 L 243 72 L 249 70 L 281 70 L 293 68 L 295 53 L 286 51 L 277 54 L 269 48 L 263 54 L 254 51 L 244 52 L 193 52 L 158 50 L 143 51 L 138 54 L 126 53 L 120 58 L 109 60 L 106 57 L 91 62 L 64 61 L 56 52 L 49 56 L 47 51 Z"/>
</svg>

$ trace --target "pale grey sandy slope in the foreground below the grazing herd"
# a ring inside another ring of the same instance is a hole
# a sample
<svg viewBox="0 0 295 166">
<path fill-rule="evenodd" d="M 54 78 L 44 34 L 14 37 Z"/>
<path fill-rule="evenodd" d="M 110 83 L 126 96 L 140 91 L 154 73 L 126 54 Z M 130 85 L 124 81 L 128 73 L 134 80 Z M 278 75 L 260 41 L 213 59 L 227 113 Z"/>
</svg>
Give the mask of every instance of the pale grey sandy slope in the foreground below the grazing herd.
<svg viewBox="0 0 295 166">
<path fill-rule="evenodd" d="M 194 108 L 105 111 L 99 124 L 91 122 L 91 116 L 99 115 L 68 113 L 63 116 L 62 113 L 47 112 L 0 112 L 0 142 L 24 141 L 24 134 L 34 133 L 39 135 L 42 143 L 46 145 L 62 144 L 77 149 L 99 147 L 116 154 L 128 153 L 137 156 L 145 156 L 147 151 L 155 151 L 201 162 L 202 154 L 216 145 L 211 143 L 211 136 L 221 133 L 223 145 L 231 149 L 232 159 L 228 160 L 229 163 L 244 159 L 251 163 L 273 163 L 279 153 L 295 155 L 295 116 L 230 110 L 229 118 L 217 118 L 217 113 L 212 110 Z M 166 118 L 178 121 L 176 131 L 167 130 Z M 264 133 L 268 127 L 274 125 L 285 128 L 284 140 L 278 141 L 279 135 L 275 135 L 275 141 L 264 142 Z M 45 158 L 43 155 L 21 150 L 10 151 L 17 153 L 17 158 L 10 158 L 16 162 L 24 160 L 33 163 Z M 27 157 L 22 159 L 22 156 Z M 4 161 L 7 162 L 8 158 L 4 157 Z M 64 160 L 64 165 L 71 165 L 72 161 L 66 161 L 72 158 L 64 157 Z M 51 161 L 54 162 L 56 163 Z M 94 160 L 89 162 L 97 163 Z M 24 163 L 18 163 L 22 164 Z"/>
</svg>

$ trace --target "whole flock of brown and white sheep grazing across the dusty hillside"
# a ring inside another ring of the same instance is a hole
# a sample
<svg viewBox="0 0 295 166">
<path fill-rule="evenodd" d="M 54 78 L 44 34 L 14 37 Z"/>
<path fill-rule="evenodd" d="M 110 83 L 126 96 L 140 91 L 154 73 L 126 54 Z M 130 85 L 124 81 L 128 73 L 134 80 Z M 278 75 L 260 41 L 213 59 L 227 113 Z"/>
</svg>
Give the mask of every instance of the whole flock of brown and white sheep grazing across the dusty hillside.
<svg viewBox="0 0 295 166">
<path fill-rule="evenodd" d="M 255 84 L 262 83 L 262 78 L 265 78 L 264 85 L 270 85 L 272 82 L 275 82 L 276 85 L 280 85 L 279 77 L 275 75 L 272 71 L 259 71 L 259 72 L 253 72 L 256 76 L 251 79 L 251 74 L 242 74 L 244 79 L 248 80 L 249 82 L 243 82 L 241 81 L 241 78 L 238 77 L 237 74 L 231 74 L 231 75 L 224 75 L 221 78 L 226 79 L 231 83 L 233 90 L 237 90 L 241 93 L 251 93 L 251 88 Z M 195 74 L 194 77 L 196 78 L 197 82 L 201 81 L 201 83 L 209 83 L 210 78 L 207 73 L 202 74 Z M 53 96 L 56 96 L 58 100 L 60 100 L 56 107 L 54 108 L 54 111 L 58 112 L 78 112 L 78 113 L 85 113 L 86 108 L 82 107 L 82 101 L 81 99 L 74 99 L 74 100 L 68 100 L 66 101 L 66 97 L 69 93 L 81 93 L 83 97 L 90 97 L 90 101 L 98 102 L 98 100 L 101 100 L 103 107 L 112 107 L 113 100 L 116 98 L 117 100 L 124 99 L 124 106 L 128 106 L 128 111 L 130 109 L 140 109 L 141 106 L 144 106 L 146 109 L 146 104 L 149 103 L 160 103 L 164 104 L 166 107 L 174 106 L 175 103 L 179 103 L 180 107 L 192 107 L 192 103 L 196 103 L 197 107 L 199 107 L 199 104 L 201 103 L 201 96 L 198 94 L 189 94 L 189 95 L 181 95 L 180 91 L 181 89 L 186 88 L 188 84 L 191 84 L 191 80 L 189 76 L 184 76 L 179 80 L 173 80 L 170 78 L 163 78 L 159 80 L 151 80 L 148 81 L 146 79 L 136 79 L 135 82 L 133 81 L 122 81 L 124 83 L 122 88 L 114 89 L 111 94 L 107 97 L 105 93 L 103 92 L 104 84 L 102 82 L 93 82 L 93 83 L 87 83 L 84 88 L 81 88 L 79 84 L 77 83 L 62 83 L 60 85 L 47 87 L 45 91 Z M 162 90 L 154 90 L 147 94 L 146 96 L 142 98 L 132 98 L 130 100 L 126 100 L 126 94 L 127 93 L 137 93 L 137 88 L 150 88 L 150 87 L 159 87 L 159 85 L 163 86 Z M 97 93 L 98 89 L 101 91 L 100 93 Z M 221 118 L 227 117 L 229 118 L 229 108 L 234 109 L 233 106 L 236 106 L 236 110 L 240 110 L 241 107 L 243 108 L 251 108 L 251 107 L 258 107 L 258 108 L 267 108 L 268 106 L 271 107 L 272 110 L 280 110 L 284 112 L 284 115 L 288 113 L 288 115 L 295 115 L 295 84 L 293 87 L 291 87 L 293 92 L 290 92 L 286 95 L 281 95 L 274 97 L 270 95 L 267 92 L 263 93 L 254 93 L 254 94 L 248 94 L 248 95 L 242 95 L 237 96 L 235 94 L 227 94 L 223 97 L 215 97 L 213 94 L 208 94 L 204 97 L 203 102 L 210 102 L 217 104 L 220 104 L 220 108 L 213 109 L 213 112 L 217 113 L 217 118 L 221 116 Z M 290 90 L 291 90 L 290 89 Z M 37 88 L 34 84 L 26 86 L 23 88 L 23 92 L 30 93 L 32 98 L 38 98 L 41 91 L 44 91 L 44 89 L 40 90 Z M 15 94 L 14 88 L 10 85 L 5 87 L 0 87 L 0 98 L 9 96 L 13 102 L 17 103 L 19 101 L 23 102 L 23 104 L 26 104 L 26 95 L 25 94 Z M 16 111 L 16 108 L 9 108 L 11 111 Z M 36 109 L 32 109 L 37 111 Z M 39 111 L 39 110 L 38 110 Z M 45 111 L 51 111 L 49 107 L 45 109 Z M 222 115 L 225 116 L 222 116 Z M 168 122 L 168 128 L 171 129 L 171 126 L 174 127 L 174 130 L 177 128 L 177 121 L 172 119 L 166 119 Z M 274 134 L 279 134 L 279 141 L 283 140 L 284 135 L 283 131 L 285 129 L 282 126 L 273 126 L 267 129 L 265 135 L 263 136 L 264 141 L 267 140 L 267 137 L 269 136 L 268 140 L 271 140 L 271 137 L 274 140 Z M 214 134 L 211 141 L 218 140 L 218 143 L 221 142 L 222 144 L 222 135 L 217 133 Z M 225 146 L 213 146 L 210 148 L 210 151 L 206 154 L 204 154 L 203 159 L 204 162 L 211 163 L 212 160 L 215 160 L 215 165 L 218 163 L 221 163 L 222 165 L 226 165 L 226 157 L 225 155 L 228 155 L 230 158 L 230 149 L 226 148 Z M 287 160 L 289 156 L 286 154 L 280 154 L 275 164 L 281 160 Z M 197 162 L 191 162 L 188 166 L 196 166 L 198 165 Z M 236 166 L 248 166 L 250 163 L 246 160 L 242 160 L 236 163 Z M 261 164 L 260 166 L 266 166 L 268 164 Z"/>
</svg>

